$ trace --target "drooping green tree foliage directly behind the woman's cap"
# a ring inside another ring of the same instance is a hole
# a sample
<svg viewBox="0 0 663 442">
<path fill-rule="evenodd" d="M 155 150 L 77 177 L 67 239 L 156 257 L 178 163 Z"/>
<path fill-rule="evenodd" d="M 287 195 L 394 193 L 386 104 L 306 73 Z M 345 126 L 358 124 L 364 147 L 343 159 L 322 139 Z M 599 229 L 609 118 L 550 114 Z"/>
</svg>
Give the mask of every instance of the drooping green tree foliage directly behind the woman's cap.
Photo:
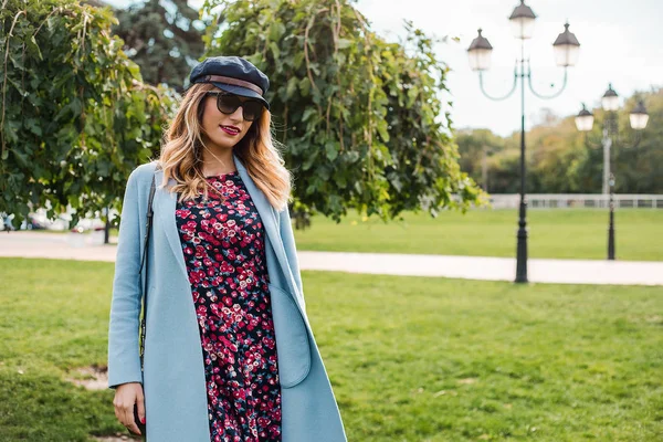
<svg viewBox="0 0 663 442">
<path fill-rule="evenodd" d="M 433 39 L 407 23 L 407 39 L 388 43 L 349 0 L 203 6 L 207 14 L 219 10 L 223 25 L 209 28 L 207 55 L 244 56 L 270 76 L 266 97 L 296 176 L 296 211 L 338 222 L 356 208 L 388 220 L 477 201 L 481 191 L 457 165 L 449 115 L 438 120 L 449 69 Z"/>
</svg>

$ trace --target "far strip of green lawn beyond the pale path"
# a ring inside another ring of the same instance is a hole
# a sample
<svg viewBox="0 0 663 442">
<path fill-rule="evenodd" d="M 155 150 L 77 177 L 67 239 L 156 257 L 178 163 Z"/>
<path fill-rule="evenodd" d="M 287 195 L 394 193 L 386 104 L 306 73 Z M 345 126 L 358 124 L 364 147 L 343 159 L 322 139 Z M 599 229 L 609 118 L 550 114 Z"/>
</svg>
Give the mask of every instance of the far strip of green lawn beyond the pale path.
<svg viewBox="0 0 663 442">
<path fill-rule="evenodd" d="M 407 212 L 404 221 L 362 222 L 350 212 L 340 224 L 317 215 L 312 228 L 296 231 L 299 250 L 515 256 L 517 211 L 473 210 Z M 663 210 L 624 209 L 615 213 L 617 259 L 663 261 Z M 527 212 L 530 257 L 604 260 L 608 212 L 602 209 L 551 209 Z"/>
</svg>

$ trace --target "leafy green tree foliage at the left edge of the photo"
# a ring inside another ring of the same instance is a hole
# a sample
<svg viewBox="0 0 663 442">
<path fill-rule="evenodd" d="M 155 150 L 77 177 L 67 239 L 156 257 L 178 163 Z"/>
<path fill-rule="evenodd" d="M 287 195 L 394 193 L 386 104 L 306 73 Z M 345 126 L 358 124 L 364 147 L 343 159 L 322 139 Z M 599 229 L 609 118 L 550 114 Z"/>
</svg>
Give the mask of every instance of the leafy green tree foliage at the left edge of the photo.
<svg viewBox="0 0 663 442">
<path fill-rule="evenodd" d="M 172 104 L 146 86 L 110 35 L 109 9 L 8 0 L 0 11 L 0 211 L 118 207 L 127 177 L 159 147 Z"/>
</svg>

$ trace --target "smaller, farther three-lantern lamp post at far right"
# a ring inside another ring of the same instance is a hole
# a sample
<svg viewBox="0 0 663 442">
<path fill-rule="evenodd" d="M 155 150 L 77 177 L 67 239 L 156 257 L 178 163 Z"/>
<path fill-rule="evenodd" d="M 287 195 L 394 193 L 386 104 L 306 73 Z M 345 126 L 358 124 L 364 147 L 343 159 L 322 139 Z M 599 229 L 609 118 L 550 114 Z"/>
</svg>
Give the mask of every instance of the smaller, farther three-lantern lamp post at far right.
<svg viewBox="0 0 663 442">
<path fill-rule="evenodd" d="M 608 220 L 608 260 L 614 261 L 614 173 L 612 172 L 610 154 L 613 140 L 619 140 L 619 122 L 617 119 L 617 110 L 619 109 L 619 95 L 612 88 L 612 83 L 608 85 L 608 91 L 601 98 L 601 106 L 606 110 L 606 118 L 603 118 L 601 146 L 603 147 L 603 197 L 608 199 L 608 207 L 610 208 L 610 215 Z M 585 104 L 582 110 L 576 116 L 576 127 L 578 130 L 585 133 L 585 144 L 591 146 L 587 133 L 593 127 L 593 115 L 587 110 Z M 644 107 L 642 99 L 638 102 L 638 105 L 631 110 L 629 118 L 631 128 L 635 130 L 636 137 L 633 143 L 623 143 L 624 146 L 638 147 L 640 144 L 641 130 L 646 127 L 649 120 L 649 114 Z"/>
</svg>

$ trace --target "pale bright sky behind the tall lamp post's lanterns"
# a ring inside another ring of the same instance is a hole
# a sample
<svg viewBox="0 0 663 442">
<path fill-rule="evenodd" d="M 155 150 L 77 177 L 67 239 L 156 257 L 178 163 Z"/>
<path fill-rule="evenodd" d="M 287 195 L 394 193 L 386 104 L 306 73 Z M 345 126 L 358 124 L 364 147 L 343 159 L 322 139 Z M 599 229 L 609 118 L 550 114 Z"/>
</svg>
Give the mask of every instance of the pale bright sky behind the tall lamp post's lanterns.
<svg viewBox="0 0 663 442">
<path fill-rule="evenodd" d="M 106 0 L 115 7 L 126 7 L 130 0 Z M 435 36 L 455 36 L 435 45 L 438 59 L 451 69 L 448 87 L 451 94 L 453 127 L 488 128 L 501 136 L 520 129 L 520 84 L 507 99 L 494 102 L 480 88 L 478 74 L 470 69 L 467 48 L 483 29 L 493 45 L 492 67 L 484 72 L 486 92 L 493 96 L 506 94 L 514 81 L 520 40 L 513 36 L 508 17 L 518 0 L 359 0 L 356 7 L 369 20 L 371 29 L 388 41 L 404 34 L 403 20 Z M 202 0 L 190 0 L 200 7 Z M 525 57 L 532 65 L 532 81 L 539 94 L 559 90 L 564 67 L 555 63 L 552 42 L 569 30 L 580 42 L 576 66 L 568 69 L 565 91 L 556 98 L 536 97 L 526 85 L 526 128 L 540 122 L 541 109 L 549 108 L 559 116 L 576 115 L 586 103 L 588 108 L 600 106 L 608 84 L 622 98 L 638 91 L 663 87 L 663 32 L 660 0 L 528 0 L 537 15 L 534 35 L 525 43 Z M 550 85 L 554 84 L 554 87 Z"/>
</svg>

